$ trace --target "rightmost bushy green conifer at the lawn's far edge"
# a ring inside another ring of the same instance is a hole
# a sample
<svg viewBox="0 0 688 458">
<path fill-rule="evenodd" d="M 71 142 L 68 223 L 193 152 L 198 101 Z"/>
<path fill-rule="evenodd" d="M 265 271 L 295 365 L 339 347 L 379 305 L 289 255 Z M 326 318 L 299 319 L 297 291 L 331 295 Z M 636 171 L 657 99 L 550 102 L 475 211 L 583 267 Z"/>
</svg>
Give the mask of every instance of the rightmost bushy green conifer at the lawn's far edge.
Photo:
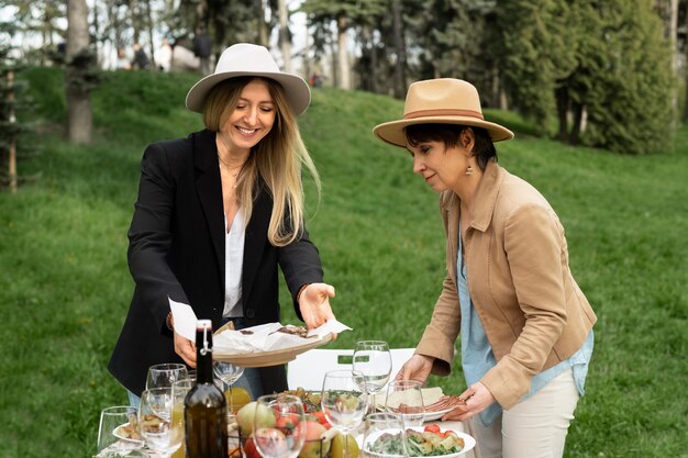
<svg viewBox="0 0 688 458">
<path fill-rule="evenodd" d="M 667 152 L 676 126 L 673 49 L 646 0 L 600 1 L 602 45 L 581 94 L 588 108 L 582 142 L 630 154 Z"/>
</svg>

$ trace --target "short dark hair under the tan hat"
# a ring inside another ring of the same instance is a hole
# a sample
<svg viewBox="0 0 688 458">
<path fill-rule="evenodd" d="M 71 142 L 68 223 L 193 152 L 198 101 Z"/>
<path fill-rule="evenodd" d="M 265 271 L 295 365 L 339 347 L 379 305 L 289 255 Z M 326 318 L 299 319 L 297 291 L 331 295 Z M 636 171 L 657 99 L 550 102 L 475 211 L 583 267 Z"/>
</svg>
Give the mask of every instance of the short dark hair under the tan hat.
<svg viewBox="0 0 688 458">
<path fill-rule="evenodd" d="M 404 129 L 409 145 L 417 146 L 422 142 L 442 142 L 447 148 L 458 146 L 458 138 L 465 129 L 471 129 L 476 138 L 473 156 L 480 170 L 485 170 L 489 161 L 497 161 L 497 149 L 490 134 L 482 127 L 463 124 L 411 124 Z"/>
</svg>

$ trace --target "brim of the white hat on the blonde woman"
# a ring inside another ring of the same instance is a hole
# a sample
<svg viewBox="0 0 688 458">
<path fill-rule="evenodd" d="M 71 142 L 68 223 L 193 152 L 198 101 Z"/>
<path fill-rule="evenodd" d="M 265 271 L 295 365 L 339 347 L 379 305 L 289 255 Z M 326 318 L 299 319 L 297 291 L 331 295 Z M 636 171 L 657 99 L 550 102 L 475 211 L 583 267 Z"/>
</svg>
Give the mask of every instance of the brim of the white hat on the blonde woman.
<svg viewBox="0 0 688 458">
<path fill-rule="evenodd" d="M 206 104 L 206 98 L 215 85 L 230 78 L 243 76 L 269 78 L 279 82 L 281 87 L 285 88 L 285 96 L 289 101 L 289 105 L 291 107 L 295 116 L 303 113 L 311 103 L 311 89 L 308 86 L 308 82 L 297 75 L 266 71 L 225 71 L 222 74 L 208 75 L 193 85 L 187 93 L 187 108 L 191 111 L 202 113 L 203 105 Z"/>
</svg>

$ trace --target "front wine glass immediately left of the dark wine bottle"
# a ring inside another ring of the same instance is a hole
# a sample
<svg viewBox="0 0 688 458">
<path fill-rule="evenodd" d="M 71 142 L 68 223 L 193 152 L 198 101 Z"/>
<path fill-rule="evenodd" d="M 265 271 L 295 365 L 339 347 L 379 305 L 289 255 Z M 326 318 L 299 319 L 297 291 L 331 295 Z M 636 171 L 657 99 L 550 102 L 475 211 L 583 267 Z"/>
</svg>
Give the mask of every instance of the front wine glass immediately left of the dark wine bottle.
<svg viewBox="0 0 688 458">
<path fill-rule="evenodd" d="M 171 416 L 173 387 L 144 390 L 138 406 L 141 436 L 163 458 L 169 458 L 184 440 L 184 427 L 173 422 Z"/>
</svg>

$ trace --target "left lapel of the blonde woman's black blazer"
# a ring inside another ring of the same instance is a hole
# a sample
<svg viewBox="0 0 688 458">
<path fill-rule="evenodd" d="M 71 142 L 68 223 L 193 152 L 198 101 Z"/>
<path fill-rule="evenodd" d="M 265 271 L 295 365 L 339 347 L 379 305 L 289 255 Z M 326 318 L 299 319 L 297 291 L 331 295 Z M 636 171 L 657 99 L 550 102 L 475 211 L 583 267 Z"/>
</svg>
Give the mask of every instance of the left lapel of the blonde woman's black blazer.
<svg viewBox="0 0 688 458">
<path fill-rule="evenodd" d="M 215 135 L 201 131 L 193 135 L 193 166 L 196 168 L 196 192 L 206 215 L 215 259 L 224 280 L 224 211 L 222 186 L 218 166 Z"/>
</svg>

